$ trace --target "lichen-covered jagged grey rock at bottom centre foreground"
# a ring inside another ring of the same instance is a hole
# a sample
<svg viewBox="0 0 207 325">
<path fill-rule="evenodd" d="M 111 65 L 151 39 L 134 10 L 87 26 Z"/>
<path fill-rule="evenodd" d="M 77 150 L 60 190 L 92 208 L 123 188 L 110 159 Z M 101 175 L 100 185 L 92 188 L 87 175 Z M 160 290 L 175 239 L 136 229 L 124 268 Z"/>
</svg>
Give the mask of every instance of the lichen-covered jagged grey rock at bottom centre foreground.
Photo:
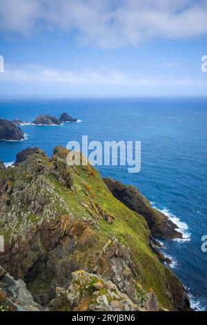
<svg viewBox="0 0 207 325">
<path fill-rule="evenodd" d="M 92 311 L 140 311 L 111 281 L 83 270 L 72 273 L 68 289 L 57 288 L 56 298 L 51 301 L 53 310 Z"/>
</svg>

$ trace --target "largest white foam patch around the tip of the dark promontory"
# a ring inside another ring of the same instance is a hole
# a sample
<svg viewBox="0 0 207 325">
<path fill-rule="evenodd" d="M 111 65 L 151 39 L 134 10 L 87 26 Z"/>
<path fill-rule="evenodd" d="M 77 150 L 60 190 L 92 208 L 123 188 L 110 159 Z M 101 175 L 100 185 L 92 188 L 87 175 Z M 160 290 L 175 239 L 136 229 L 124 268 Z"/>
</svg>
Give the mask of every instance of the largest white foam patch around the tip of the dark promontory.
<svg viewBox="0 0 207 325">
<path fill-rule="evenodd" d="M 170 212 L 168 209 L 157 209 L 159 212 L 165 214 L 168 216 L 168 218 L 177 225 L 177 230 L 183 234 L 183 238 L 179 239 L 173 239 L 174 241 L 178 241 L 179 243 L 184 242 L 184 241 L 190 241 L 190 232 L 188 232 L 188 225 L 184 221 L 181 221 L 175 214 Z"/>
</svg>

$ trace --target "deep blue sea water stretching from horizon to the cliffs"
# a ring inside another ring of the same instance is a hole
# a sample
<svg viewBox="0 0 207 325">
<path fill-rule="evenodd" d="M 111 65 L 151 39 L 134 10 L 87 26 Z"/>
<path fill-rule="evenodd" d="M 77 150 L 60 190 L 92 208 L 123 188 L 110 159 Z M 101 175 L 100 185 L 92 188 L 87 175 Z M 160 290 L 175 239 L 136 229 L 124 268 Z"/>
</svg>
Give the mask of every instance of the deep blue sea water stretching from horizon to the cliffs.
<svg viewBox="0 0 207 325">
<path fill-rule="evenodd" d="M 52 154 L 55 145 L 88 135 L 89 140 L 141 141 L 141 171 L 98 167 L 102 176 L 135 185 L 159 210 L 178 223 L 184 240 L 162 240 L 173 271 L 190 288 L 193 306 L 207 310 L 207 99 L 1 99 L 0 118 L 32 121 L 63 111 L 81 120 L 62 126 L 23 125 L 22 142 L 0 141 L 0 160 L 9 163 L 29 146 Z"/>
</svg>

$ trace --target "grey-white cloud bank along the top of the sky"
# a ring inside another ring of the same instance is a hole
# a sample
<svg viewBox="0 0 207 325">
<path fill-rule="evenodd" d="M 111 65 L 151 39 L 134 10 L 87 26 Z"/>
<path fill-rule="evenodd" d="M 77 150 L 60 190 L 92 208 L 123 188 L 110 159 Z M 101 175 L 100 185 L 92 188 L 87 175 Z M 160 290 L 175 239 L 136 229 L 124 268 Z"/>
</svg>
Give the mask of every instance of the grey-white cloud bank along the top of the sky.
<svg viewBox="0 0 207 325">
<path fill-rule="evenodd" d="M 98 46 L 207 33 L 206 0 L 1 0 L 0 32 L 77 31 Z"/>
</svg>

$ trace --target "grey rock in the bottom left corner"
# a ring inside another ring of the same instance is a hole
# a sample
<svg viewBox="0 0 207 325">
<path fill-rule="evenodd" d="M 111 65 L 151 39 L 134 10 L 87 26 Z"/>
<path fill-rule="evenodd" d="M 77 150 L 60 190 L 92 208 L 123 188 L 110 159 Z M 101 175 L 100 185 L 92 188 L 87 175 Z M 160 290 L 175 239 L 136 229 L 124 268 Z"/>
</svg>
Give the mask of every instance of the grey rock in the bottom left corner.
<svg viewBox="0 0 207 325">
<path fill-rule="evenodd" d="M 0 266 L 0 311 L 43 311 L 21 280 L 15 280 Z"/>
</svg>

